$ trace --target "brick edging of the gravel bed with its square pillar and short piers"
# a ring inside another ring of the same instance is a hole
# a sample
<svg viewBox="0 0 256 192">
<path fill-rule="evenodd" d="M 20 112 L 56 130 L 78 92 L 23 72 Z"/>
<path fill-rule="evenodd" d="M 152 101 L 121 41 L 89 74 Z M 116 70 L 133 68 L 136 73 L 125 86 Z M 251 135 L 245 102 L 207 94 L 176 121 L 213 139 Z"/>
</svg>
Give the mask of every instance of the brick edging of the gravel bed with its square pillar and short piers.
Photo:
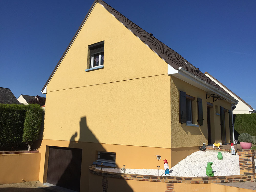
<svg viewBox="0 0 256 192">
<path fill-rule="evenodd" d="M 174 191 L 174 183 L 229 183 L 251 181 L 256 178 L 254 162 L 255 151 L 239 149 L 237 155 L 239 155 L 240 175 L 216 177 L 172 177 L 106 172 L 103 170 L 95 169 L 95 165 L 90 165 L 89 169 L 90 173 L 103 177 L 102 185 L 104 192 L 107 190 L 106 177 L 150 182 L 164 182 L 166 183 L 166 191 Z"/>
</svg>

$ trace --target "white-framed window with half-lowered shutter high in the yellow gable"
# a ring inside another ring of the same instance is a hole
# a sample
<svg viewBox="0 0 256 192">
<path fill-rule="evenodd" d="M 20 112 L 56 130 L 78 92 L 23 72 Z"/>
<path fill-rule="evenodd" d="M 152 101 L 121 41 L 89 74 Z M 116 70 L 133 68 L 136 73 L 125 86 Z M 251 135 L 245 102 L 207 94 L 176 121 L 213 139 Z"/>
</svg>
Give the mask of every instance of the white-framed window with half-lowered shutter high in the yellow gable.
<svg viewBox="0 0 256 192">
<path fill-rule="evenodd" d="M 90 50 L 90 68 L 99 67 L 104 64 L 104 47 Z"/>
</svg>

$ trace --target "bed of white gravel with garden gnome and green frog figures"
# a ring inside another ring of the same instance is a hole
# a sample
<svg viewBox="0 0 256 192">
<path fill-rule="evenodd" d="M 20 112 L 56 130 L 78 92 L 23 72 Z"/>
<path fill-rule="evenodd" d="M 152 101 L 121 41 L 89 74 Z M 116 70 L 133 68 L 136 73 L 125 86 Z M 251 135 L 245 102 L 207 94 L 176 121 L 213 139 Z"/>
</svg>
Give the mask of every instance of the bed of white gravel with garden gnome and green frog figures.
<svg viewBox="0 0 256 192">
<path fill-rule="evenodd" d="M 231 155 L 228 152 L 221 152 L 223 159 L 219 160 L 217 155 L 218 151 L 197 151 L 187 156 L 180 161 L 177 165 L 169 168 L 170 176 L 178 177 L 202 177 L 206 176 L 207 162 L 213 162 L 212 170 L 214 176 L 226 176 L 226 175 L 239 175 L 239 157 L 238 155 Z M 170 162 L 170 159 L 167 159 Z M 256 159 L 255 159 L 256 161 Z M 104 165 L 104 164 L 103 164 Z M 164 161 L 160 160 L 156 163 L 156 166 L 160 165 L 159 175 L 169 176 L 164 174 Z M 126 174 L 139 174 L 139 175 L 157 175 L 158 169 L 130 169 L 129 164 L 126 164 Z M 101 169 L 101 167 L 96 167 Z M 162 168 L 162 169 L 161 169 Z M 102 168 L 104 171 L 114 173 L 124 173 L 123 168 Z"/>
</svg>

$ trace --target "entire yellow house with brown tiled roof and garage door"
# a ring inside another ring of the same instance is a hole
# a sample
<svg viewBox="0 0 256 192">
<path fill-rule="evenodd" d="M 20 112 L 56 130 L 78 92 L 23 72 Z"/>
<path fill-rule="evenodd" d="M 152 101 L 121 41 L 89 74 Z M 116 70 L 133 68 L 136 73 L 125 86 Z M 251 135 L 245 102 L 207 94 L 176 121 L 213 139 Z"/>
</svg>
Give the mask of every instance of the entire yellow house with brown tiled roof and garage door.
<svg viewBox="0 0 256 192">
<path fill-rule="evenodd" d="M 237 100 L 100 0 L 42 93 L 47 97 L 42 183 L 88 191 L 94 185 L 88 166 L 95 160 L 156 169 L 167 159 L 172 167 L 202 143 L 233 141 Z"/>
</svg>

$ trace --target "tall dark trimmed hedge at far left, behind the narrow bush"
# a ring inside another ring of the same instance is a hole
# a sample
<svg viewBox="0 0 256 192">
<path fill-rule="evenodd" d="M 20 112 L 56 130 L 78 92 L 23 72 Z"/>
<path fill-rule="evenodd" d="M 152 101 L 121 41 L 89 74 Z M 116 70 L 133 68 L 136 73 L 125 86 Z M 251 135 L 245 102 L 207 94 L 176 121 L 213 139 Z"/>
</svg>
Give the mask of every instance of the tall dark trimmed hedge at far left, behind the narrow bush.
<svg viewBox="0 0 256 192">
<path fill-rule="evenodd" d="M 0 151 L 24 146 L 24 121 L 26 111 L 30 109 L 42 111 L 37 104 L 0 104 Z"/>
</svg>

